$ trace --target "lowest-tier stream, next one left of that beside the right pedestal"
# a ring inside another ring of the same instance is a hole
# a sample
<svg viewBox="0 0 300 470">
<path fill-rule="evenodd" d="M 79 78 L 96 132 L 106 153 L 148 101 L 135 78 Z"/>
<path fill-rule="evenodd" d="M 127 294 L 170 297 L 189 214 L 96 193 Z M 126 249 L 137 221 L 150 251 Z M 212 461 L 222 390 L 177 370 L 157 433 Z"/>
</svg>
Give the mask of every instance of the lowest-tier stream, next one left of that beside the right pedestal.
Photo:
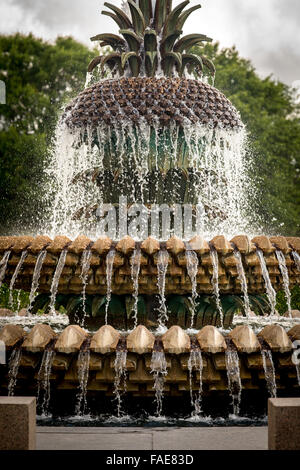
<svg viewBox="0 0 300 470">
<path fill-rule="evenodd" d="M 227 369 L 228 390 L 232 398 L 233 414 L 240 414 L 242 398 L 242 381 L 240 374 L 239 356 L 235 349 L 228 347 L 225 351 L 225 362 Z"/>
</svg>

